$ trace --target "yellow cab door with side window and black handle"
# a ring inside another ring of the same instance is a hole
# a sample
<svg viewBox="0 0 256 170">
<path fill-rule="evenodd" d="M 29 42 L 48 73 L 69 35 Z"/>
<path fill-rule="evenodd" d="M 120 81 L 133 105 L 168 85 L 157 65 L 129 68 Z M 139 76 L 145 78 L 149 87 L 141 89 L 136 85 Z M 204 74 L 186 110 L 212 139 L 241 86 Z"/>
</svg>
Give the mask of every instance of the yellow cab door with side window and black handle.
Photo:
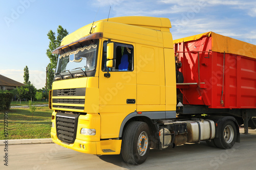
<svg viewBox="0 0 256 170">
<path fill-rule="evenodd" d="M 113 42 L 113 41 L 112 41 Z M 101 138 L 118 137 L 122 120 L 136 110 L 136 70 L 133 43 L 115 41 L 113 67 L 106 67 L 104 40 L 99 68 L 99 113 Z M 106 76 L 108 74 L 109 76 Z"/>
</svg>

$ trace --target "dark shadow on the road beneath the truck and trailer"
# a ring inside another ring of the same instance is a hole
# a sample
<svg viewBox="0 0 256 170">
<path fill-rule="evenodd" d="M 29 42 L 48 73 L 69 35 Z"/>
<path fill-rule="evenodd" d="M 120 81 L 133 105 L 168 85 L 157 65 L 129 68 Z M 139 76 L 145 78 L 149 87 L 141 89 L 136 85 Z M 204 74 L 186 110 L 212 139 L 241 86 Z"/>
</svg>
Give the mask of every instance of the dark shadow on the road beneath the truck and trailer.
<svg viewBox="0 0 256 170">
<path fill-rule="evenodd" d="M 205 141 L 201 141 L 200 143 L 185 143 L 183 145 L 175 147 L 175 149 L 173 149 L 172 147 L 168 147 L 166 149 L 163 149 L 162 151 L 151 149 L 147 160 L 141 165 L 131 165 L 125 163 L 122 159 L 121 154 L 101 155 L 99 156 L 99 158 L 105 162 L 109 162 L 111 164 L 119 166 L 121 169 L 154 169 L 153 167 L 156 166 L 167 168 L 168 166 L 166 166 L 166 164 L 171 165 L 173 163 L 180 164 L 183 161 L 195 161 L 203 154 L 206 164 L 209 165 L 209 162 L 211 160 L 214 160 L 215 157 L 223 155 L 226 152 L 238 154 L 240 147 L 242 149 L 255 142 L 256 134 L 241 134 L 241 143 L 236 143 L 234 145 L 234 149 L 230 150 L 209 147 Z"/>
</svg>

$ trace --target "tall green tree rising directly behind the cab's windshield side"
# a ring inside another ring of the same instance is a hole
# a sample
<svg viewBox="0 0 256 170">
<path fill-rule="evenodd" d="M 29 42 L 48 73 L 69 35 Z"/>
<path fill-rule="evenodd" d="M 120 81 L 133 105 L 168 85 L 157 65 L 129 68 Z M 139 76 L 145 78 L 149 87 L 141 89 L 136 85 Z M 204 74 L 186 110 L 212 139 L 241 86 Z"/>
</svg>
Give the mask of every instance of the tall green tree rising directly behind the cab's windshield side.
<svg viewBox="0 0 256 170">
<path fill-rule="evenodd" d="M 52 54 L 53 50 L 60 46 L 61 40 L 66 37 L 69 32 L 66 29 L 63 29 L 61 26 L 57 29 L 57 36 L 55 33 L 50 30 L 47 34 L 50 43 L 49 48 L 46 51 L 46 55 L 50 59 L 50 63 L 48 64 L 48 74 L 47 74 L 47 89 L 52 89 L 52 82 L 54 79 L 55 68 L 57 65 L 58 55 Z"/>
</svg>

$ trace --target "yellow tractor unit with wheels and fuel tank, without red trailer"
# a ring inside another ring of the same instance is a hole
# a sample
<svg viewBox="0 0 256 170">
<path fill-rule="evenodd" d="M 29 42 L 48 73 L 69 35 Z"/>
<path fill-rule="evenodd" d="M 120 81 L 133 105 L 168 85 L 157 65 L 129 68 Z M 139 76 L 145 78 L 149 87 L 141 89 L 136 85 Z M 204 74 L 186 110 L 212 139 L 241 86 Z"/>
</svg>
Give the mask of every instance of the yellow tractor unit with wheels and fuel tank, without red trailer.
<svg viewBox="0 0 256 170">
<path fill-rule="evenodd" d="M 121 153 L 131 164 L 143 163 L 150 148 L 207 140 L 227 149 L 239 141 L 233 116 L 206 119 L 200 111 L 182 114 L 182 102 L 177 107 L 171 27 L 168 18 L 115 17 L 63 38 L 53 51 L 52 140 L 87 154 Z"/>
</svg>

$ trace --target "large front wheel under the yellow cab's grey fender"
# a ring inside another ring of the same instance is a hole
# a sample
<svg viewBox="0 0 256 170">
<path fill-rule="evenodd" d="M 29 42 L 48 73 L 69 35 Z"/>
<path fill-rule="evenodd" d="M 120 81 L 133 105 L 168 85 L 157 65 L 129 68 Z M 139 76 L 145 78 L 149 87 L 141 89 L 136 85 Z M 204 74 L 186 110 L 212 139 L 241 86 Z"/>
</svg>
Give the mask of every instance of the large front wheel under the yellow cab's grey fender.
<svg viewBox="0 0 256 170">
<path fill-rule="evenodd" d="M 150 128 L 144 122 L 130 123 L 123 134 L 121 154 L 125 162 L 141 164 L 150 151 Z"/>
</svg>

